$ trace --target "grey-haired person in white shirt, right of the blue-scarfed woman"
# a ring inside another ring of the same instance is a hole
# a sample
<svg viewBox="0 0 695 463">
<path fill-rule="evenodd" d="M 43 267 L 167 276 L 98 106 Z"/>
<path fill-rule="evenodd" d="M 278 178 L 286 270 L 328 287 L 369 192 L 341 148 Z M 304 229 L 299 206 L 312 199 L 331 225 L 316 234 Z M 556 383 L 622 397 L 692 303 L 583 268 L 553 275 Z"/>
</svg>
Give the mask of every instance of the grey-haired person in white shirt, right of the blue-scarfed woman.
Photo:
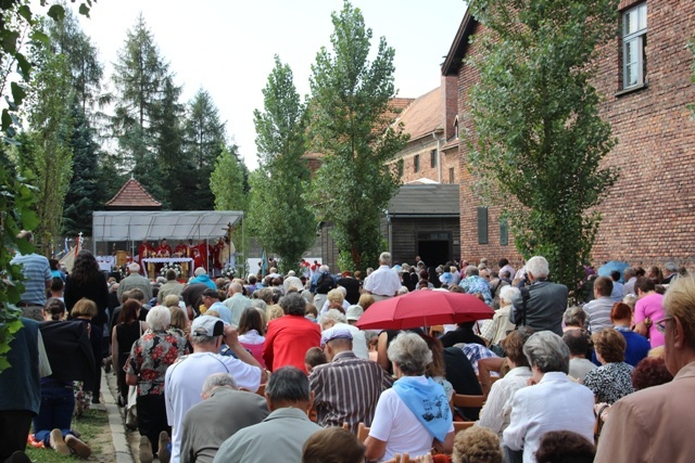
<svg viewBox="0 0 695 463">
<path fill-rule="evenodd" d="M 533 387 L 523 387 L 511 399 L 511 420 L 504 430 L 508 450 L 523 450 L 523 462 L 535 461 L 541 437 L 551 430 L 572 430 L 594 438 L 594 395 L 568 376 L 569 349 L 549 331 L 533 334 L 523 345 Z M 542 403 L 543 407 L 539 407 Z"/>
</svg>

